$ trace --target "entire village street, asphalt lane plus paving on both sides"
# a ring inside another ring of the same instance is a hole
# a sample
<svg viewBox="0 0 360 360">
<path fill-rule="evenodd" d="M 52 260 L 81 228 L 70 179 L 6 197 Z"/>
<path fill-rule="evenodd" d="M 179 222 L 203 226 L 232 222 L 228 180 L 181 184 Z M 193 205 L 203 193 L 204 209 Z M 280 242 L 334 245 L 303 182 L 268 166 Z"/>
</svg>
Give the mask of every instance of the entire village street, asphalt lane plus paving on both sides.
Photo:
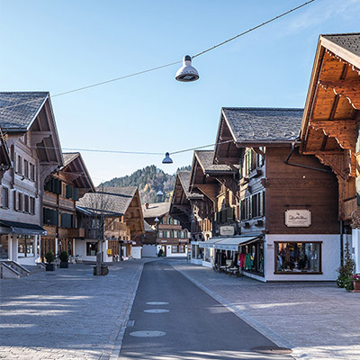
<svg viewBox="0 0 360 360">
<path fill-rule="evenodd" d="M 173 259 L 114 263 L 102 277 L 92 271 L 78 264 L 2 280 L 0 358 L 356 359 L 360 354 L 360 294 L 334 284 L 262 284 Z M 136 331 L 162 336 L 130 336 Z M 251 351 L 274 343 L 293 347 L 293 355 Z"/>
</svg>

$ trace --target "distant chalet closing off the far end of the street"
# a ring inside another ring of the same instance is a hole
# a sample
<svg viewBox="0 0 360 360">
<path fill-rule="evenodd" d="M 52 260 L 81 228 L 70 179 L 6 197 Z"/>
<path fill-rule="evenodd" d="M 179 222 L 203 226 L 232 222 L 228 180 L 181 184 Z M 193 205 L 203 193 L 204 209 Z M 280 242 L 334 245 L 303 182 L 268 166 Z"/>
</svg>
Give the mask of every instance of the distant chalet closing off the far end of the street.
<svg viewBox="0 0 360 360">
<path fill-rule="evenodd" d="M 170 202 L 145 203 L 144 218 L 156 229 L 155 244 L 143 247 L 144 257 L 185 257 L 188 251 L 190 233 L 179 220 L 170 215 Z"/>
</svg>

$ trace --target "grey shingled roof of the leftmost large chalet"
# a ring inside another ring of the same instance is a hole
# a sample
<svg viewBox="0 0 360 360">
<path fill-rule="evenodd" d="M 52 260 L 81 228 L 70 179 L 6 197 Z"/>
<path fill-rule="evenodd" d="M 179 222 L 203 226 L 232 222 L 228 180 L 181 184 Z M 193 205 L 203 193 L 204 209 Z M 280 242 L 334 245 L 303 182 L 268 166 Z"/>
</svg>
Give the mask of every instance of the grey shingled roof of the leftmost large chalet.
<svg viewBox="0 0 360 360">
<path fill-rule="evenodd" d="M 29 130 L 49 92 L 0 92 L 0 125 L 4 131 Z"/>
</svg>

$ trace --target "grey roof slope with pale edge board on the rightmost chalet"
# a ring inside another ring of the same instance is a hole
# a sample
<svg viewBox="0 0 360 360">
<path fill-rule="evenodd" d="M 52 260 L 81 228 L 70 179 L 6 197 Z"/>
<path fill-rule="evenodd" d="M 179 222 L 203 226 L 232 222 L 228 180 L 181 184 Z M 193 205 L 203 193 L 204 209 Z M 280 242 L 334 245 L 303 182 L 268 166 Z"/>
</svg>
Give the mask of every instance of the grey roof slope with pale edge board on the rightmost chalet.
<svg viewBox="0 0 360 360">
<path fill-rule="evenodd" d="M 321 45 L 360 68 L 360 32 L 320 35 Z"/>
</svg>

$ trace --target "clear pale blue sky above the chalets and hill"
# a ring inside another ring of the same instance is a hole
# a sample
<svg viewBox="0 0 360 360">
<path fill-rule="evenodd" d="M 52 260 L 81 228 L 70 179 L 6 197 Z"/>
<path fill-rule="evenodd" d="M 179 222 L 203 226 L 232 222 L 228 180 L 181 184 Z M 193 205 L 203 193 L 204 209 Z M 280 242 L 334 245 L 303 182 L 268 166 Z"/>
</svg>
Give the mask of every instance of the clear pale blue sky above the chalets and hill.
<svg viewBox="0 0 360 360">
<path fill-rule="evenodd" d="M 303 2 L 0 0 L 1 89 L 58 94 L 161 66 Z M 222 106 L 303 107 L 320 33 L 358 32 L 359 18 L 360 0 L 317 0 L 194 58 L 197 82 L 176 82 L 175 65 L 56 97 L 61 145 L 172 152 L 211 144 Z M 94 184 L 193 156 L 82 155 Z"/>
</svg>

